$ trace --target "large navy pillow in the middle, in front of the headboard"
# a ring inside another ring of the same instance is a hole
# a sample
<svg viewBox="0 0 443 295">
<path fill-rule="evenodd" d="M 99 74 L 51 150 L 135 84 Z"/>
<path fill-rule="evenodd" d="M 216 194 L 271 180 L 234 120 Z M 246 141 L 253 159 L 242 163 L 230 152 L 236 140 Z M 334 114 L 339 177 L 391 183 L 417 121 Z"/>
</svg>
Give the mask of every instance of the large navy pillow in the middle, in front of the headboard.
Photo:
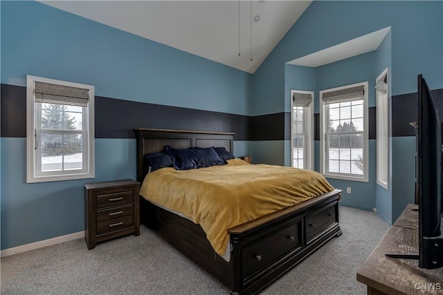
<svg viewBox="0 0 443 295">
<path fill-rule="evenodd" d="M 171 146 L 165 146 L 165 151 L 174 156 L 174 168 L 177 170 L 198 169 L 228 164 L 225 160 L 220 159 L 213 147 L 204 149 L 174 149 Z"/>
</svg>

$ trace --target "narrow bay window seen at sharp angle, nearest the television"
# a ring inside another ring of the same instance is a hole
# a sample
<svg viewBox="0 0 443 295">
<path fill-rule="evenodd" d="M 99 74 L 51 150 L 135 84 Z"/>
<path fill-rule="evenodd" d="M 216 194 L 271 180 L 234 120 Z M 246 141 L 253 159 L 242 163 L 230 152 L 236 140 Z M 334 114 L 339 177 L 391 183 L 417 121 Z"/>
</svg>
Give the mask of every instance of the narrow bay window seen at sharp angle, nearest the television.
<svg viewBox="0 0 443 295">
<path fill-rule="evenodd" d="M 389 175 L 389 100 L 388 68 L 377 77 L 377 184 L 388 189 Z"/>
</svg>

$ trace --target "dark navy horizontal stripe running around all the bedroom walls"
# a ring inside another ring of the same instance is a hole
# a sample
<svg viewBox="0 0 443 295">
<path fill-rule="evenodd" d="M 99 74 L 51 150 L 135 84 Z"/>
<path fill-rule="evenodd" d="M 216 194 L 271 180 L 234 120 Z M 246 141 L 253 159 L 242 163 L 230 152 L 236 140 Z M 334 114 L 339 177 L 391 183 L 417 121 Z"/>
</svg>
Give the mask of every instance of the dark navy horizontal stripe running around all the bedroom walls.
<svg viewBox="0 0 443 295">
<path fill-rule="evenodd" d="M 443 114 L 443 89 L 431 91 Z M 1 137 L 26 137 L 26 87 L 1 84 Z M 235 132 L 235 140 L 290 140 L 291 114 L 255 117 L 96 97 L 96 138 L 134 138 L 135 127 Z M 369 108 L 369 139 L 377 138 L 376 108 Z M 442 116 L 443 118 L 443 116 Z M 417 93 L 392 96 L 392 137 L 415 136 Z M 320 116 L 314 114 L 314 140 Z"/>
</svg>

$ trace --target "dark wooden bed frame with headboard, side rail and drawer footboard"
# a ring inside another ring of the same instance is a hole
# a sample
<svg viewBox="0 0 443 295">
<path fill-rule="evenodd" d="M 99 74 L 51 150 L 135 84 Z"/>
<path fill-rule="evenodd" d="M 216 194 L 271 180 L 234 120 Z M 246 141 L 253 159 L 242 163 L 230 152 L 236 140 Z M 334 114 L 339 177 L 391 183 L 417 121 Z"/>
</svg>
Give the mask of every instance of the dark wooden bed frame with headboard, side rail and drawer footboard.
<svg viewBox="0 0 443 295">
<path fill-rule="evenodd" d="M 134 129 L 137 138 L 137 180 L 143 182 L 143 156 L 176 149 L 223 146 L 233 153 L 234 133 Z M 213 274 L 231 294 L 255 294 L 273 283 L 334 236 L 338 225 L 336 189 L 228 229 L 232 251 L 227 262 L 217 255 L 194 222 L 170 213 L 141 197 L 141 222 Z"/>
</svg>

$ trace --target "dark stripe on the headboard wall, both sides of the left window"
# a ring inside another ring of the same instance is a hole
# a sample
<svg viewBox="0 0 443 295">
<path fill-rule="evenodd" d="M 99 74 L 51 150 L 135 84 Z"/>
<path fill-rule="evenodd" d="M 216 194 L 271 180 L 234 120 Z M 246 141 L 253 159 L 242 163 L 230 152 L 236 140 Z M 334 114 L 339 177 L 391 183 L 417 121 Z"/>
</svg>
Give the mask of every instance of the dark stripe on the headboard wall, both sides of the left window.
<svg viewBox="0 0 443 295">
<path fill-rule="evenodd" d="M 136 127 L 235 132 L 252 140 L 250 117 L 96 96 L 96 138 L 135 138 Z M 26 137 L 26 87 L 1 84 L 1 136 Z"/>
</svg>

